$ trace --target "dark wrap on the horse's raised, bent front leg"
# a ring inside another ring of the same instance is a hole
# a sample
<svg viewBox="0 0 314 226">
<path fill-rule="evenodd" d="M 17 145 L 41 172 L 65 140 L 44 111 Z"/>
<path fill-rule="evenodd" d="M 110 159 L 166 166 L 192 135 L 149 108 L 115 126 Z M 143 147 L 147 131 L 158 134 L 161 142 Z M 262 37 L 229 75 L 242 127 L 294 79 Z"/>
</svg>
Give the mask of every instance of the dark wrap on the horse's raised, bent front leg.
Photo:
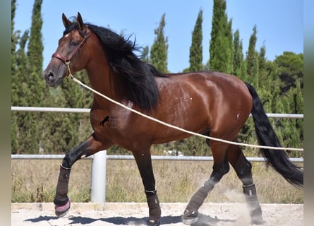
<svg viewBox="0 0 314 226">
<path fill-rule="evenodd" d="M 64 206 L 68 202 L 68 180 L 70 179 L 71 169 L 60 165 L 58 184 L 56 185 L 56 196 L 54 204 Z"/>
</svg>

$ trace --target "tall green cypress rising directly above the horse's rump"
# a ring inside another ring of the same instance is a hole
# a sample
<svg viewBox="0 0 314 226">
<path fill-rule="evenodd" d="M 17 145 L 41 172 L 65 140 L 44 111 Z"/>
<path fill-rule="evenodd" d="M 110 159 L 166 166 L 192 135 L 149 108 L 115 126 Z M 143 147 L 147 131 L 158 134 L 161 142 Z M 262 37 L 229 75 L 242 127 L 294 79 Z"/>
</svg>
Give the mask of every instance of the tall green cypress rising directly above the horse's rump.
<svg viewBox="0 0 314 226">
<path fill-rule="evenodd" d="M 212 31 L 210 32 L 210 70 L 231 73 L 232 71 L 232 21 L 228 23 L 225 0 L 214 0 Z"/>
</svg>

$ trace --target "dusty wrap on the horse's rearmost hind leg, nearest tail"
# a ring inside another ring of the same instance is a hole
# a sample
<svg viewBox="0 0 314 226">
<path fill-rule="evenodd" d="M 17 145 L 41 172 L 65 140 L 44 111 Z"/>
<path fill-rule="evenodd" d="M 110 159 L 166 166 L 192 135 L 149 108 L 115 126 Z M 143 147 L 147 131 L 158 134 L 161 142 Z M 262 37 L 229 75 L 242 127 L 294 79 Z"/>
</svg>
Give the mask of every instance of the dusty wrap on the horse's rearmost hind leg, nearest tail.
<svg viewBox="0 0 314 226">
<path fill-rule="evenodd" d="M 255 184 L 243 186 L 243 193 L 246 197 L 246 203 L 248 204 L 248 211 L 252 223 L 255 225 L 262 225 L 265 221 L 262 220 L 262 209 L 260 208 L 260 202 L 256 195 Z"/>
</svg>

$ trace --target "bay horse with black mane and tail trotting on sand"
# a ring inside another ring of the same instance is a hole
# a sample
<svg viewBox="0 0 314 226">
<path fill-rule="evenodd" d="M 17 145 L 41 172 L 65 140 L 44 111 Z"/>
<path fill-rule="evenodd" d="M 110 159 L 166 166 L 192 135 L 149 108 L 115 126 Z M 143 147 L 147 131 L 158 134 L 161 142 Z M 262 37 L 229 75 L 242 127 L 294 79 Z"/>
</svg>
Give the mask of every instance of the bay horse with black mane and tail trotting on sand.
<svg viewBox="0 0 314 226">
<path fill-rule="evenodd" d="M 71 72 L 86 69 L 92 88 L 150 117 L 196 133 L 236 141 L 238 132 L 252 113 L 259 143 L 280 146 L 262 102 L 251 85 L 215 71 L 162 75 L 150 64 L 140 61 L 133 53 L 138 50 L 135 44 L 123 36 L 107 28 L 83 23 L 80 13 L 76 21 L 68 20 L 64 14 L 62 20 L 66 30 L 44 70 L 48 85 L 56 87 Z M 56 215 L 65 215 L 71 206 L 67 194 L 73 163 L 117 144 L 131 150 L 138 165 L 149 208 L 147 225 L 159 225 L 161 209 L 150 146 L 191 135 L 141 117 L 97 94 L 94 94 L 90 122 L 92 135 L 67 152 L 60 167 L 54 198 Z M 261 224 L 262 210 L 250 162 L 238 145 L 213 140 L 207 140 L 207 144 L 214 157 L 212 174 L 191 197 L 183 212 L 183 222 L 191 225 L 198 220 L 198 208 L 215 184 L 229 172 L 230 163 L 243 183 L 252 222 Z M 267 162 L 288 182 L 303 186 L 303 171 L 290 162 L 283 150 L 261 151 Z"/>
</svg>

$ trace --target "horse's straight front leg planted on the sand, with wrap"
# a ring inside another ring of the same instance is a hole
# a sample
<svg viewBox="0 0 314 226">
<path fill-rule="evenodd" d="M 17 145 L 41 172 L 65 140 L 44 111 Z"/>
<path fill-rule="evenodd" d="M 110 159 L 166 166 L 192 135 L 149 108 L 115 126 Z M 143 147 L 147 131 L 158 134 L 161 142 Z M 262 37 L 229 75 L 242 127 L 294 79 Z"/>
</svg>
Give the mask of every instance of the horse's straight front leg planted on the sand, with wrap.
<svg viewBox="0 0 314 226">
<path fill-rule="evenodd" d="M 140 176 L 143 180 L 143 185 L 147 198 L 150 215 L 150 218 L 147 221 L 147 225 L 160 225 L 159 219 L 162 215 L 162 210 L 160 209 L 157 191 L 155 189 L 155 178 L 152 171 L 152 158 L 150 155 L 150 148 L 148 148 L 145 152 L 133 151 L 133 155 L 138 165 L 138 169 L 140 170 Z"/>
</svg>

